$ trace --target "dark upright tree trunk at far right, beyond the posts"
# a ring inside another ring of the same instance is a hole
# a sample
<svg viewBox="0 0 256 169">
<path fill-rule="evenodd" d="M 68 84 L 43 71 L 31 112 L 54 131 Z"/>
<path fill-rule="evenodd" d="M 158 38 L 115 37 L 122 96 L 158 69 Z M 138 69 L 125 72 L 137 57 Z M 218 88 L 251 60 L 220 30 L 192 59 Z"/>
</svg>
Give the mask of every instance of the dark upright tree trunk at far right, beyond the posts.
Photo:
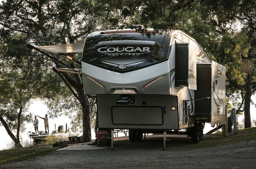
<svg viewBox="0 0 256 169">
<path fill-rule="evenodd" d="M 251 83 L 250 73 L 248 73 L 247 78 L 245 80 L 244 129 L 251 127 L 251 114 L 250 114 L 251 96 L 252 96 L 252 83 Z"/>
</svg>

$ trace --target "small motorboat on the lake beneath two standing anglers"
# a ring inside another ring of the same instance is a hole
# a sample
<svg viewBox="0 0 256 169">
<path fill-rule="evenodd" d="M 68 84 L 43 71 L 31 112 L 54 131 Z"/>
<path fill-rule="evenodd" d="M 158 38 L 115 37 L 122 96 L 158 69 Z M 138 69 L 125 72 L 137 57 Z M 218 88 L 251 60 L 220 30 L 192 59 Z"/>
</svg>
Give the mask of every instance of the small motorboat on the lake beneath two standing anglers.
<svg viewBox="0 0 256 169">
<path fill-rule="evenodd" d="M 58 130 L 52 130 L 52 133 L 47 131 L 39 131 L 39 134 L 28 131 L 28 137 L 32 138 L 34 142 L 40 141 L 68 141 L 68 134 L 63 132 L 63 125 L 58 127 Z"/>
</svg>

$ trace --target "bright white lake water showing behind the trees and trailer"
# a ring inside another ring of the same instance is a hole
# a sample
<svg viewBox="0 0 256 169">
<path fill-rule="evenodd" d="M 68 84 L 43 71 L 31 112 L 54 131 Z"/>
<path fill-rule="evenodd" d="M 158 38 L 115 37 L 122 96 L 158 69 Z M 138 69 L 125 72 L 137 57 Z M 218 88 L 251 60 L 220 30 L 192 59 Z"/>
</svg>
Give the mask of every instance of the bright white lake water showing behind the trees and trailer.
<svg viewBox="0 0 256 169">
<path fill-rule="evenodd" d="M 252 100 L 255 102 L 256 99 L 255 99 L 255 96 L 252 96 Z M 32 104 L 30 105 L 28 111 L 40 116 L 40 117 L 44 117 L 45 114 L 47 113 L 48 111 L 48 108 L 46 105 L 44 105 L 44 101 L 43 100 L 40 100 L 40 99 L 34 99 L 32 100 Z M 34 114 L 33 114 L 33 117 L 34 117 Z M 37 117 L 38 118 L 38 117 Z M 240 115 L 238 116 L 238 121 L 242 121 L 244 119 L 244 115 Z M 254 105 L 251 105 L 251 120 L 255 120 L 256 119 L 256 109 L 254 107 Z M 38 125 L 38 130 L 43 130 L 44 131 L 44 120 L 43 119 L 40 119 L 38 118 L 39 120 L 39 125 Z M 58 129 L 58 126 L 59 125 L 63 125 L 64 129 L 66 127 L 66 123 L 68 125 L 68 128 L 71 127 L 70 126 L 70 121 L 71 119 L 69 119 L 67 116 L 65 115 L 61 115 L 60 117 L 58 118 L 49 118 L 49 132 L 51 133 L 52 130 L 54 130 L 54 124 L 56 125 L 56 129 Z M 33 126 L 33 123 L 28 123 L 25 125 L 26 127 L 26 130 L 24 133 L 21 133 L 20 134 L 20 137 L 23 139 L 23 140 L 29 140 L 29 137 L 27 135 L 27 132 L 28 131 L 31 131 L 31 132 L 35 132 L 35 129 L 34 129 L 34 126 Z M 209 123 L 206 123 L 205 124 L 205 127 L 204 127 L 204 134 L 207 133 L 208 131 L 210 131 L 211 129 L 213 129 L 211 127 L 211 125 Z M 14 135 L 16 136 L 16 133 L 14 133 Z M 82 135 L 82 133 L 81 133 Z M 3 126 L 0 126 L 0 136 L 1 136 L 1 139 L 0 139 L 0 150 L 2 149 L 6 149 L 7 148 L 7 144 L 11 143 L 12 142 L 12 139 L 10 138 L 10 136 L 7 134 L 6 130 L 4 129 Z M 124 136 L 123 133 L 118 133 L 118 136 Z M 92 130 L 92 139 L 95 139 L 95 134 L 94 134 L 94 130 Z"/>
</svg>

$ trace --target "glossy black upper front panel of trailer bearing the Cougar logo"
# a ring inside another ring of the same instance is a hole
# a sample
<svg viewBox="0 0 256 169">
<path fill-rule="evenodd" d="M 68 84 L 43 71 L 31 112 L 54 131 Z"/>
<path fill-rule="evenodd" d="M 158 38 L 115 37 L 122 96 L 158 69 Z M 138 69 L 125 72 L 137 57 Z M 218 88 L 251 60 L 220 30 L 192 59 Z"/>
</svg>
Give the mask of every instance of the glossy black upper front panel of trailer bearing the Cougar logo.
<svg viewBox="0 0 256 169">
<path fill-rule="evenodd" d="M 163 34 L 91 34 L 82 61 L 116 72 L 141 69 L 168 60 L 170 37 Z"/>
</svg>

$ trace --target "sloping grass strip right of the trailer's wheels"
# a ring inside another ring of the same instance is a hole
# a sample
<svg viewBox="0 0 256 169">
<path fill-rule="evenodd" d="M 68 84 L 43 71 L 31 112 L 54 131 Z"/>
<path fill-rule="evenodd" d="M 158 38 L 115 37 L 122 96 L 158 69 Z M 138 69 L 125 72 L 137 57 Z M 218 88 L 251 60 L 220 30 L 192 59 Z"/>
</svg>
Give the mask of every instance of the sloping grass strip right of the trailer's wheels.
<svg viewBox="0 0 256 169">
<path fill-rule="evenodd" d="M 184 149 L 198 149 L 206 147 L 216 147 L 219 145 L 233 144 L 238 142 L 256 140 L 256 127 L 242 129 L 238 131 L 238 135 L 229 133 L 228 137 L 222 137 L 221 134 L 207 134 L 204 135 L 204 140 L 197 144 L 189 144 Z"/>
</svg>

